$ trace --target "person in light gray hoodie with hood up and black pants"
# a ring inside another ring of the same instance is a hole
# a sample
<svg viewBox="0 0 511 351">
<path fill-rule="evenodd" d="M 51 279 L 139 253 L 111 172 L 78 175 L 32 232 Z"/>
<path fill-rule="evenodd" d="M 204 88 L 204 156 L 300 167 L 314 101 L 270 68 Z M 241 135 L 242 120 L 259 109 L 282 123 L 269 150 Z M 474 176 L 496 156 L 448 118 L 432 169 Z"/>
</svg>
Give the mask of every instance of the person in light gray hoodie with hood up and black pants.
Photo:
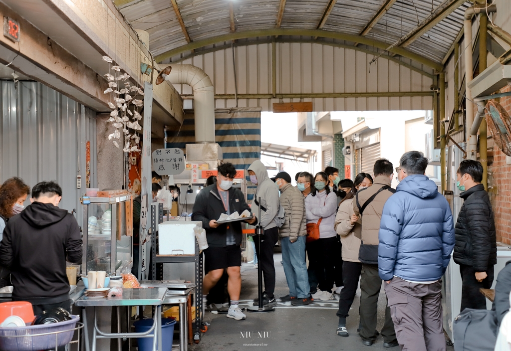
<svg viewBox="0 0 511 351">
<path fill-rule="evenodd" d="M 263 305 L 275 306 L 277 304 L 273 292 L 275 291 L 275 266 L 273 264 L 273 247 L 278 240 L 278 228 L 275 217 L 278 214 L 278 205 L 280 200 L 278 197 L 278 188 L 268 176 L 268 171 L 260 160 L 255 160 L 248 168 L 250 181 L 257 185 L 254 199 L 252 202 L 252 213 L 258 219 L 258 222 L 264 229 L 262 238 L 254 235 L 255 252 L 259 264 L 263 269 L 264 277 L 264 294 Z M 261 207 L 261 218 L 259 218 L 259 208 Z M 259 249 L 259 240 L 261 240 L 261 250 Z M 259 301 L 254 299 L 254 303 Z"/>
</svg>

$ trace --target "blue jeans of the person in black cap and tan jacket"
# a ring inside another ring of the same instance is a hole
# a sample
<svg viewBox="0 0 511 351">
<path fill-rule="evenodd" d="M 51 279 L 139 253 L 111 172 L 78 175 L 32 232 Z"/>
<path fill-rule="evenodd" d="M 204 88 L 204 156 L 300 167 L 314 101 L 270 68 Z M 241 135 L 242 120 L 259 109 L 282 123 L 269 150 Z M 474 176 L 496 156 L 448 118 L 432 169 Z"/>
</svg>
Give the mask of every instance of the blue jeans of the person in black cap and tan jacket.
<svg viewBox="0 0 511 351">
<path fill-rule="evenodd" d="M 289 238 L 282 238 L 282 263 L 286 281 L 289 287 L 289 295 L 298 298 L 306 298 L 310 295 L 309 276 L 305 263 L 305 236 L 299 236 L 291 243 Z"/>
</svg>

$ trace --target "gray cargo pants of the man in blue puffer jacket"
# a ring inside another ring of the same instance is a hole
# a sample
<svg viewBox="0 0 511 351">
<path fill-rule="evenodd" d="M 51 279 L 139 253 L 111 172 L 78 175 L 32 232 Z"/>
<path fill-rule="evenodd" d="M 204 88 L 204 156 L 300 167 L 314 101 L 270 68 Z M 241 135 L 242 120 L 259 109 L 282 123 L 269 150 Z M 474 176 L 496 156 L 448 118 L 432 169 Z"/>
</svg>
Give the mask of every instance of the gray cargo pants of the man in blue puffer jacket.
<svg viewBox="0 0 511 351">
<path fill-rule="evenodd" d="M 416 284 L 394 277 L 385 283 L 390 314 L 403 351 L 445 351 L 442 282 Z"/>
</svg>

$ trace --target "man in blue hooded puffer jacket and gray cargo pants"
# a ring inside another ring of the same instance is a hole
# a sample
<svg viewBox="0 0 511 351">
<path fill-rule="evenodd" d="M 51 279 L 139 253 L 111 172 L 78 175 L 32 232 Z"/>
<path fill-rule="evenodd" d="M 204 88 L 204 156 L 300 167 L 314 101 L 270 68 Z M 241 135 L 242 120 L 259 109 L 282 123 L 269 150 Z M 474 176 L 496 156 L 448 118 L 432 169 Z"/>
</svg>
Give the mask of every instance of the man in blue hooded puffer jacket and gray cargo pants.
<svg viewBox="0 0 511 351">
<path fill-rule="evenodd" d="M 454 248 L 451 209 L 418 151 L 400 160 L 400 184 L 383 208 L 378 267 L 403 350 L 445 350 L 442 283 Z"/>
</svg>

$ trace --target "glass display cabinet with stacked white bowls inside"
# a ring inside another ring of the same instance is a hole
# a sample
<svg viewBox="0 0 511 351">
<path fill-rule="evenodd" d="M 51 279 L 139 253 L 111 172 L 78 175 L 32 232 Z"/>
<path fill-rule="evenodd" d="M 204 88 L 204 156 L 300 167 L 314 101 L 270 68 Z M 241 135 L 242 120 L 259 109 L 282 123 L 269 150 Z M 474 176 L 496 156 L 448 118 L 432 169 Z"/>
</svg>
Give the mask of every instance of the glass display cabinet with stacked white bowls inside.
<svg viewBox="0 0 511 351">
<path fill-rule="evenodd" d="M 104 270 L 119 274 L 133 265 L 133 199 L 131 194 L 115 197 L 82 197 L 82 273 Z"/>
</svg>

